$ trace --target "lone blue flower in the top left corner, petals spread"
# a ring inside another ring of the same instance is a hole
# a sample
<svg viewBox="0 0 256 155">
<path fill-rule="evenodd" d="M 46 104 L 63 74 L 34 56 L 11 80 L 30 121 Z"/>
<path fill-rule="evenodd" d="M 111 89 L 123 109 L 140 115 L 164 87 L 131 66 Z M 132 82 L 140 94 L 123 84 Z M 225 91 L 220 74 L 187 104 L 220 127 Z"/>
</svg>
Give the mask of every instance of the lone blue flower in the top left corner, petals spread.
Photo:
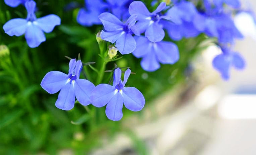
<svg viewBox="0 0 256 155">
<path fill-rule="evenodd" d="M 44 32 L 50 33 L 56 25 L 60 25 L 60 17 L 54 14 L 38 18 L 35 15 L 36 2 L 31 0 L 25 3 L 27 18 L 15 18 L 4 24 L 3 29 L 9 36 L 21 36 L 25 38 L 29 47 L 38 47 L 46 40 Z"/>
</svg>

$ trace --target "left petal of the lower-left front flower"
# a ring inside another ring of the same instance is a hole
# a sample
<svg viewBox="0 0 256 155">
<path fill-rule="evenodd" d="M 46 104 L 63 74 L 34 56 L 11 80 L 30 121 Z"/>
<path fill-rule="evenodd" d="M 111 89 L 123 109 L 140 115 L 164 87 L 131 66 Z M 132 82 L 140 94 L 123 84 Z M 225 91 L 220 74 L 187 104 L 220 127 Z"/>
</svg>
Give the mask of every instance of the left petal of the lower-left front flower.
<svg viewBox="0 0 256 155">
<path fill-rule="evenodd" d="M 41 82 L 41 87 L 48 93 L 57 93 L 67 82 L 68 75 L 59 71 L 48 72 Z"/>
</svg>

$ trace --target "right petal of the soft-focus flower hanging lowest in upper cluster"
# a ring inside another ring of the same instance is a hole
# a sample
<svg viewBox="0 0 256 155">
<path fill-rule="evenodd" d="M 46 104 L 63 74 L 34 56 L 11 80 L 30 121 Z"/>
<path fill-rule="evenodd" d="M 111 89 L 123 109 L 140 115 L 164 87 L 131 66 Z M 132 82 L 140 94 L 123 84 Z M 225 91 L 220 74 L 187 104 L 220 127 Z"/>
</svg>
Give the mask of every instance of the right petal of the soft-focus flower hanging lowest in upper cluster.
<svg viewBox="0 0 256 155">
<path fill-rule="evenodd" d="M 179 60 L 178 47 L 172 42 L 157 42 L 155 54 L 159 62 L 163 64 L 174 64 Z"/>
</svg>

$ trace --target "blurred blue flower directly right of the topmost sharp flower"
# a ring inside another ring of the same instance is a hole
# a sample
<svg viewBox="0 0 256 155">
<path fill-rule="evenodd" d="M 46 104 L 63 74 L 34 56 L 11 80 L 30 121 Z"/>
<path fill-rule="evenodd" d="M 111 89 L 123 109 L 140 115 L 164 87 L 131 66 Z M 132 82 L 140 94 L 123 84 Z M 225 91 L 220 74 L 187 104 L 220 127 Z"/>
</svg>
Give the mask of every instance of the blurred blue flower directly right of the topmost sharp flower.
<svg viewBox="0 0 256 155">
<path fill-rule="evenodd" d="M 198 14 L 193 3 L 181 0 L 174 3 L 175 5 L 169 9 L 166 15 L 171 16 L 171 21 L 161 21 L 167 30 L 170 38 L 180 40 L 183 37 L 196 37 L 200 34 L 194 24 L 193 19 Z"/>
</svg>

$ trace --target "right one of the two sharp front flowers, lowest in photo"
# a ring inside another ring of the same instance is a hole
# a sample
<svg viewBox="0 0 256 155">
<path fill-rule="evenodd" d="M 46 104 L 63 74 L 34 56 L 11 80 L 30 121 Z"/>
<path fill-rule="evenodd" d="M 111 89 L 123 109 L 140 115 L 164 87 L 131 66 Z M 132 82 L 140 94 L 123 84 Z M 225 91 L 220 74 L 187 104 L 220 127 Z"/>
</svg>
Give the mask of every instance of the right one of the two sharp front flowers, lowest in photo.
<svg viewBox="0 0 256 155">
<path fill-rule="evenodd" d="M 119 121 L 123 117 L 123 104 L 131 111 L 140 111 L 145 105 L 142 93 L 134 87 L 124 87 L 131 73 L 127 69 L 124 73 L 124 81 L 121 80 L 121 70 L 115 69 L 113 86 L 100 84 L 91 92 L 91 104 L 103 107 L 107 104 L 106 115 L 113 121 Z"/>
</svg>

